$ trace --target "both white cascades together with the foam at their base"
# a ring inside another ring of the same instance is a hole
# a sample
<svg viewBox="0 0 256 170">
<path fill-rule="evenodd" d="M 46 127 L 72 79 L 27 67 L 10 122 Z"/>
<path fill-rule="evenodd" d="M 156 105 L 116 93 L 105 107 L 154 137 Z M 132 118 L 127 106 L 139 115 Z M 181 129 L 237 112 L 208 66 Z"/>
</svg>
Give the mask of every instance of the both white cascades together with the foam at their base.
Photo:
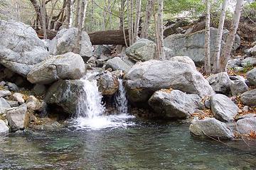
<svg viewBox="0 0 256 170">
<path fill-rule="evenodd" d="M 127 123 L 128 118 L 134 118 L 127 114 L 127 98 L 122 79 L 119 79 L 119 91 L 115 96 L 117 114 L 104 115 L 105 106 L 102 104 L 102 95 L 98 91 L 97 81 L 93 79 L 95 74 L 87 74 L 83 82 L 83 93 L 78 101 L 76 127 L 88 129 L 117 128 L 133 125 Z"/>
</svg>

